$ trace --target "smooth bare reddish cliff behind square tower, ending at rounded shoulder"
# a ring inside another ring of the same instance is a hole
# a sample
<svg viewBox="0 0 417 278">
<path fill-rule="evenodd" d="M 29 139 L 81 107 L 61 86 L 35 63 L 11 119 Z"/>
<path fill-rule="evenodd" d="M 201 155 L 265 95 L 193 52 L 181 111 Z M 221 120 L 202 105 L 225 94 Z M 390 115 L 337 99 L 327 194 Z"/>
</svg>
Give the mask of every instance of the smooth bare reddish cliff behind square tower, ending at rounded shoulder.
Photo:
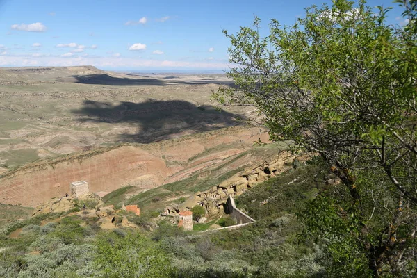
<svg viewBox="0 0 417 278">
<path fill-rule="evenodd" d="M 112 191 L 133 183 L 141 188 L 161 185 L 170 174 L 162 158 L 138 147 L 120 147 L 83 159 L 40 165 L 1 180 L 0 202 L 35 206 L 70 192 L 72 181 L 88 181 L 90 190 Z"/>
</svg>

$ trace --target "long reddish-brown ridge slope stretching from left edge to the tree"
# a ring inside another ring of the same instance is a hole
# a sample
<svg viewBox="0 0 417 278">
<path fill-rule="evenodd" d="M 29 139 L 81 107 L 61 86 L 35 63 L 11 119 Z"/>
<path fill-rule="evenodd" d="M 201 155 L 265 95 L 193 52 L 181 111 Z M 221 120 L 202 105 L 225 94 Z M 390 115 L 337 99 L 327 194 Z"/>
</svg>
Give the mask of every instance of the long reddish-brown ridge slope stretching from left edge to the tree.
<svg viewBox="0 0 417 278">
<path fill-rule="evenodd" d="M 0 203 L 37 206 L 70 193 L 70 183 L 79 180 L 87 181 L 93 193 L 111 192 L 128 185 L 155 188 L 171 181 L 170 177 L 175 177 L 174 180 L 187 177 L 181 175 L 179 178 L 175 174 L 187 171 L 188 167 L 199 164 L 206 167 L 204 163 L 207 162 L 211 162 L 210 167 L 215 167 L 224 159 L 250 149 L 259 137 L 265 141 L 268 135 L 232 128 L 179 140 L 123 145 L 31 163 L 0 177 Z M 215 147 L 220 145 L 222 147 L 216 151 Z M 204 155 L 207 149 L 212 150 L 210 156 L 201 159 L 199 155 Z"/>
</svg>

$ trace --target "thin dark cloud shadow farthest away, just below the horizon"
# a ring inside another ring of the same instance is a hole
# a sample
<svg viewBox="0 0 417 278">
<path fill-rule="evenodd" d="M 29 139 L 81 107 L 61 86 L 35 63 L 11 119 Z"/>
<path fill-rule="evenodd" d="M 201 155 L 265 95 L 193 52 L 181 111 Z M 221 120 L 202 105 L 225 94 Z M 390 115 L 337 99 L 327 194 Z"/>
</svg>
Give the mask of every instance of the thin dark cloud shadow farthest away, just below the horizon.
<svg viewBox="0 0 417 278">
<path fill-rule="evenodd" d="M 232 81 L 218 81 L 215 79 L 200 79 L 196 81 L 176 80 L 177 76 L 167 76 L 163 79 L 156 79 L 149 76 L 138 76 L 140 78 L 114 77 L 108 74 L 88 74 L 73 75 L 75 83 L 94 84 L 94 85 L 114 85 L 114 86 L 137 86 L 137 85 L 233 85 Z"/>
</svg>

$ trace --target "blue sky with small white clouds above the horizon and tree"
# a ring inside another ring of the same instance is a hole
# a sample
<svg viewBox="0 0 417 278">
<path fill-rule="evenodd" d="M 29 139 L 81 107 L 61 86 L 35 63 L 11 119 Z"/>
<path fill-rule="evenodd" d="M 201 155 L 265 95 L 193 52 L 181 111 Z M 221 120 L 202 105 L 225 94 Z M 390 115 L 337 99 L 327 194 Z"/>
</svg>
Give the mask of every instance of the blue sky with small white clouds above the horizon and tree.
<svg viewBox="0 0 417 278">
<path fill-rule="evenodd" d="M 0 0 L 0 66 L 94 65 L 105 70 L 226 70 L 222 29 L 294 24 L 330 1 Z M 368 1 L 369 6 L 397 6 Z M 400 10 L 391 13 L 401 24 Z"/>
</svg>

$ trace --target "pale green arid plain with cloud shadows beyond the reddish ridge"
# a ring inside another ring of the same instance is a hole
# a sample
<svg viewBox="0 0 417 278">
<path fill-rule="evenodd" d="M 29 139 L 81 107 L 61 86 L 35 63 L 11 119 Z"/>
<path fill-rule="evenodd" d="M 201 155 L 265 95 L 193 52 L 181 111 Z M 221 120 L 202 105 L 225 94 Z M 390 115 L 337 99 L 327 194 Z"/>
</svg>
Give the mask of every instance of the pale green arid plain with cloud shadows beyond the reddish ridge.
<svg viewBox="0 0 417 278">
<path fill-rule="evenodd" d="M 39 158 L 149 143 L 243 124 L 216 110 L 219 75 L 123 74 L 95 67 L 0 69 L 0 173 Z"/>
</svg>

